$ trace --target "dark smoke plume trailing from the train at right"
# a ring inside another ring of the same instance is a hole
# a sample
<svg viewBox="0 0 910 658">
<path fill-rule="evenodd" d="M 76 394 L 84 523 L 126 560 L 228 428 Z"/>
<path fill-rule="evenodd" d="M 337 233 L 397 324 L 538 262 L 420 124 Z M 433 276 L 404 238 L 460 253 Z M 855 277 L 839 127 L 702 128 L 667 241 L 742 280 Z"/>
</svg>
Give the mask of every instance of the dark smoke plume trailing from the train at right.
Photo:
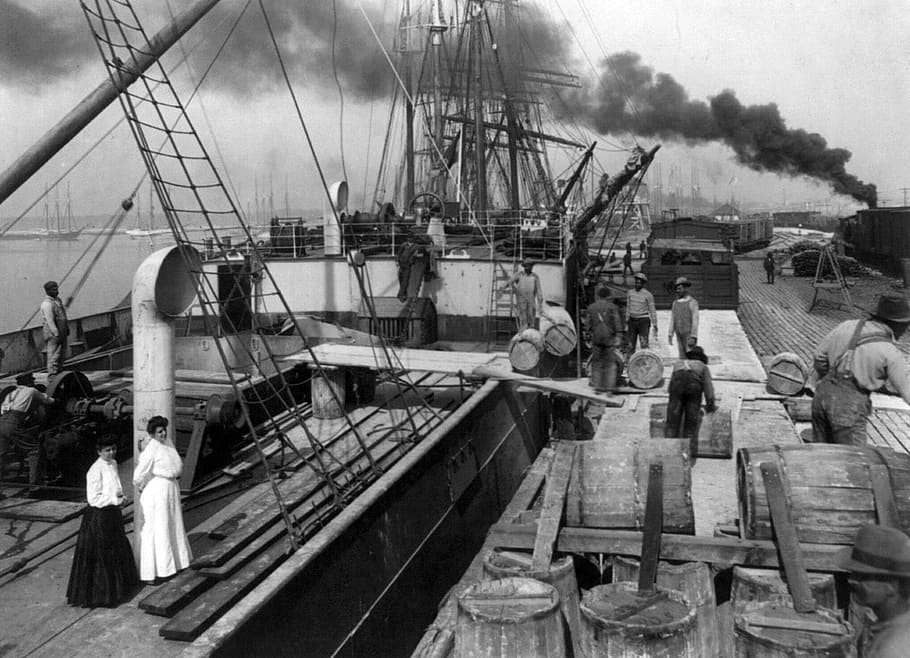
<svg viewBox="0 0 910 658">
<path fill-rule="evenodd" d="M 598 83 L 576 93 L 564 112 L 603 134 L 689 144 L 721 141 L 737 162 L 755 171 L 825 181 L 872 208 L 878 201 L 875 185 L 847 173 L 850 151 L 829 148 L 817 133 L 788 128 L 777 105 L 743 106 L 729 89 L 710 103 L 692 100 L 682 85 L 666 73 L 655 74 L 636 53 L 609 56 Z"/>
</svg>

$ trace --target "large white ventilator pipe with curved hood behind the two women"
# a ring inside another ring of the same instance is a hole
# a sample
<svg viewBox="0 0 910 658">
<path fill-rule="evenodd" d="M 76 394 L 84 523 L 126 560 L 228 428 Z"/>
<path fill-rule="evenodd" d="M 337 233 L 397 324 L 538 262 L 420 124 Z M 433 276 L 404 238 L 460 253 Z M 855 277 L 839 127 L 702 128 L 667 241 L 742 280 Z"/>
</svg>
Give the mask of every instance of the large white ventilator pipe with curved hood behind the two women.
<svg viewBox="0 0 910 658">
<path fill-rule="evenodd" d="M 183 253 L 181 253 L 183 250 Z M 177 355 L 173 318 L 196 299 L 193 275 L 201 267 L 192 247 L 160 249 L 142 261 L 133 276 L 133 455 L 152 416 L 168 420 L 174 432 Z"/>
</svg>

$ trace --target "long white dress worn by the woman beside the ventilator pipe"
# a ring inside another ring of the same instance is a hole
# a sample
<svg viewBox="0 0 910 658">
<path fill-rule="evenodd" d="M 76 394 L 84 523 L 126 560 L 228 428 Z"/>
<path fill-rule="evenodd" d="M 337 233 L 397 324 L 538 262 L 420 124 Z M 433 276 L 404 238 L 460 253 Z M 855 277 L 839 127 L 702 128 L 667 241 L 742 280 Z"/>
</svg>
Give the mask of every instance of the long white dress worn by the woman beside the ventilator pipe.
<svg viewBox="0 0 910 658">
<path fill-rule="evenodd" d="M 139 495 L 141 519 L 136 538 L 139 578 L 167 578 L 190 566 L 193 556 L 183 526 L 178 480 L 183 461 L 170 439 L 149 439 L 139 455 L 133 483 Z"/>
</svg>

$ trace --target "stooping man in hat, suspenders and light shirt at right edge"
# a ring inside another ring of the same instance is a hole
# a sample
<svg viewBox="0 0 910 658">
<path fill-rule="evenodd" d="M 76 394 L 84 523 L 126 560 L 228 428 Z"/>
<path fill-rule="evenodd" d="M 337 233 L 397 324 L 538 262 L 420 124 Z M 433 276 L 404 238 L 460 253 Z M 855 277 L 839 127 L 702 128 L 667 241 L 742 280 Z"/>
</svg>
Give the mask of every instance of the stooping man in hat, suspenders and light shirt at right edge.
<svg viewBox="0 0 910 658">
<path fill-rule="evenodd" d="M 821 380 L 812 399 L 814 441 L 865 445 L 872 391 L 910 403 L 910 369 L 896 345 L 908 326 L 907 298 L 886 293 L 871 318 L 841 322 L 822 339 L 814 360 Z"/>
</svg>

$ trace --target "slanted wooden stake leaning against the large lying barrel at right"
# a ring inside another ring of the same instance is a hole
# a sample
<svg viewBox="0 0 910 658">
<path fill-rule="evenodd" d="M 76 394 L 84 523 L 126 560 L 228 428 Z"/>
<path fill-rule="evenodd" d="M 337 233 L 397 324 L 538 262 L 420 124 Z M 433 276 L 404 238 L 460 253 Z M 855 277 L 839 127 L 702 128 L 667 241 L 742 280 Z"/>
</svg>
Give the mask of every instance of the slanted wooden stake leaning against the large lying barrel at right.
<svg viewBox="0 0 910 658">
<path fill-rule="evenodd" d="M 759 468 L 765 483 L 765 493 L 768 496 L 771 524 L 780 547 L 784 572 L 787 574 L 787 585 L 793 596 L 793 607 L 797 612 L 812 612 L 815 610 L 816 602 L 812 596 L 812 586 L 809 584 L 806 567 L 803 564 L 796 528 L 790 519 L 790 509 L 787 506 L 780 469 L 773 462 L 762 462 Z"/>
</svg>

